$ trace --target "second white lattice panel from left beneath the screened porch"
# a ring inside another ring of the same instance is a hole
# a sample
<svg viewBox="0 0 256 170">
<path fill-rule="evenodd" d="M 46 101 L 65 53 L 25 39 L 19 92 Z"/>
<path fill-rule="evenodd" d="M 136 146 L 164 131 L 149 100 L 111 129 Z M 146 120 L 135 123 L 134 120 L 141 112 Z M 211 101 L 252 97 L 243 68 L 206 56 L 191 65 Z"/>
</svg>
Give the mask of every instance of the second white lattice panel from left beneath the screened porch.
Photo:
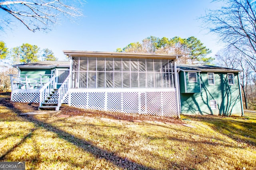
<svg viewBox="0 0 256 170">
<path fill-rule="evenodd" d="M 104 110 L 105 93 L 88 93 L 88 109 Z"/>
</svg>

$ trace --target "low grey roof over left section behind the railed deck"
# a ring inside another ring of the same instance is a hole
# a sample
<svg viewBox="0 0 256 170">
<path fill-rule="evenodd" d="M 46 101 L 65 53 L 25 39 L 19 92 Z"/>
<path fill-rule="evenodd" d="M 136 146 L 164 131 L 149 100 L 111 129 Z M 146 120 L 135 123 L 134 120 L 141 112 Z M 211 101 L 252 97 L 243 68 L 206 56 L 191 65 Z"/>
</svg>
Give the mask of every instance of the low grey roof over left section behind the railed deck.
<svg viewBox="0 0 256 170">
<path fill-rule="evenodd" d="M 35 63 L 24 63 L 13 65 L 18 68 L 54 68 L 54 67 L 70 67 L 70 61 L 38 61 Z"/>
</svg>

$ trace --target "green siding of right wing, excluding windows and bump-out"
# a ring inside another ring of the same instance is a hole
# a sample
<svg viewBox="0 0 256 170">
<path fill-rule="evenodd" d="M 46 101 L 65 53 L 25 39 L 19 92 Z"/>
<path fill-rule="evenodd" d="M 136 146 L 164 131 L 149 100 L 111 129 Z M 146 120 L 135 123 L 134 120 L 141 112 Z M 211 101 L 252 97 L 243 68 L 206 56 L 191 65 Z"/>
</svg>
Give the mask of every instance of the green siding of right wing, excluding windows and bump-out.
<svg viewBox="0 0 256 170">
<path fill-rule="evenodd" d="M 181 112 L 188 115 L 242 115 L 238 73 L 234 85 L 228 84 L 227 73 L 214 73 L 215 85 L 208 85 L 207 72 L 201 72 L 202 93 L 181 93 Z M 217 101 L 217 109 L 210 108 Z"/>
</svg>

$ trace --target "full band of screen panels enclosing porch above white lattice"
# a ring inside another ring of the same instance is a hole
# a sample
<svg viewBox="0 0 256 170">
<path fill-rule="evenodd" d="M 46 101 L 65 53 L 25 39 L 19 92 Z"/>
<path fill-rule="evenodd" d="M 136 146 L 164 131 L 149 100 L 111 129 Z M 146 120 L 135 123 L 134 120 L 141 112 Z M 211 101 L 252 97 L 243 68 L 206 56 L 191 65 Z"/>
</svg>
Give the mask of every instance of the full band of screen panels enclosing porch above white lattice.
<svg viewBox="0 0 256 170">
<path fill-rule="evenodd" d="M 112 57 L 73 59 L 72 88 L 175 87 L 172 60 Z"/>
</svg>

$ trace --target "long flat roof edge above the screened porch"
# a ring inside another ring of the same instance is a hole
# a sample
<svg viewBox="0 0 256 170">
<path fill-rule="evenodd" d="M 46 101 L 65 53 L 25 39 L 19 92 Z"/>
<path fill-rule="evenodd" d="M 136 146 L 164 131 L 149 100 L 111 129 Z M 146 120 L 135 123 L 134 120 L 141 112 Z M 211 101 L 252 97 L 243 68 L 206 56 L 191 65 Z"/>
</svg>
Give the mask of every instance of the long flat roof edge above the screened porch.
<svg viewBox="0 0 256 170">
<path fill-rule="evenodd" d="M 65 55 L 74 57 L 120 57 L 120 58 L 153 58 L 153 59 L 177 59 L 182 55 L 176 54 L 152 54 L 152 53 L 124 53 L 124 52 L 100 52 L 100 51 L 63 51 Z"/>
</svg>

